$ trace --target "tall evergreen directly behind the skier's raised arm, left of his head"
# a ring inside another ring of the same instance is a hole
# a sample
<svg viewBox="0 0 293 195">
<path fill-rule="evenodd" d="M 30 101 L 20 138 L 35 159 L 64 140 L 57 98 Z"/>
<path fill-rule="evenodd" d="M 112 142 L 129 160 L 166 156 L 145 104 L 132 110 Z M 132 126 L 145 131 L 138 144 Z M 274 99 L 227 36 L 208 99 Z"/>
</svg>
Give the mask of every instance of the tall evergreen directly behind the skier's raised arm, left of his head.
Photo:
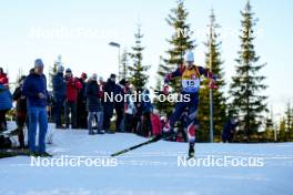
<svg viewBox="0 0 293 195">
<path fill-rule="evenodd" d="M 171 13 L 165 19 L 168 24 L 173 29 L 171 39 L 168 39 L 170 49 L 165 52 L 166 58 L 160 61 L 158 70 L 158 83 L 162 83 L 164 76 L 174 71 L 183 63 L 184 54 L 188 50 L 194 49 L 194 40 L 191 39 L 190 24 L 186 22 L 189 12 L 184 8 L 184 1 L 178 0 L 176 8 L 171 9 Z M 179 94 L 181 91 L 180 78 L 170 82 L 171 94 Z M 156 89 L 158 91 L 162 89 Z M 155 106 L 162 114 L 170 115 L 172 113 L 173 103 L 155 102 Z"/>
</svg>

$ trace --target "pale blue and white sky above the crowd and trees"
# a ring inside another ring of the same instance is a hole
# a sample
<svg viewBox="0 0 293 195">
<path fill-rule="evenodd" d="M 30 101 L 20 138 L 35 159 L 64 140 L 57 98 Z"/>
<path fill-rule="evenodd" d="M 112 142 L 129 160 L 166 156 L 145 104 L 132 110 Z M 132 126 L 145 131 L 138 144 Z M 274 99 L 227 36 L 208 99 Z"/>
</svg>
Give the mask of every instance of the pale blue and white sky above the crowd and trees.
<svg viewBox="0 0 293 195">
<path fill-rule="evenodd" d="M 185 0 L 188 22 L 196 42 L 195 62 L 204 65 L 206 25 L 211 9 L 214 9 L 218 32 L 222 41 L 223 69 L 228 81 L 235 74 L 235 61 L 240 48 L 240 10 L 246 0 Z M 293 103 L 291 88 L 293 64 L 291 0 L 251 0 L 255 18 L 254 41 L 260 63 L 267 63 L 261 74 L 267 76 L 269 107 L 281 116 L 289 101 Z M 175 0 L 0 0 L 0 66 L 16 81 L 19 70 L 27 73 L 33 61 L 41 58 L 46 71 L 58 55 L 62 63 L 79 76 L 82 72 L 107 79 L 118 71 L 118 49 L 134 44 L 134 32 L 140 23 L 144 34 L 143 63 L 151 65 L 149 86 L 155 85 L 159 58 L 164 55 L 166 39 L 173 29 L 165 22 Z"/>
</svg>

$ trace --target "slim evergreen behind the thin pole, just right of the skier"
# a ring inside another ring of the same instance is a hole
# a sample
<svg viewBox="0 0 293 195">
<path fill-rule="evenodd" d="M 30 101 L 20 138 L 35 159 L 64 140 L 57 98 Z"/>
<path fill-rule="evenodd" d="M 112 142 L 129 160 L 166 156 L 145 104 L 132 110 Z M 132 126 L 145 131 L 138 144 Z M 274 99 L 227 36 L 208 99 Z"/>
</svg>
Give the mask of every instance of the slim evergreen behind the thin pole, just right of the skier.
<svg viewBox="0 0 293 195">
<path fill-rule="evenodd" d="M 208 48 L 208 52 L 205 53 L 205 69 L 210 69 L 216 75 L 216 85 L 218 90 L 213 90 L 213 121 L 214 121 L 214 135 L 218 140 L 221 137 L 221 132 L 226 121 L 225 113 L 225 98 L 223 88 L 225 85 L 223 79 L 223 69 L 221 60 L 221 42 L 218 41 L 219 34 L 215 32 L 215 29 L 219 27 L 215 23 L 215 16 L 212 13 L 210 16 L 210 32 L 208 34 L 208 42 L 205 47 Z M 210 134 L 210 89 L 209 89 L 209 80 L 204 80 L 202 84 L 202 89 L 200 91 L 200 105 L 199 105 L 199 115 L 198 119 L 200 121 L 201 131 L 198 132 L 199 135 L 196 137 L 199 141 L 209 141 Z"/>
</svg>

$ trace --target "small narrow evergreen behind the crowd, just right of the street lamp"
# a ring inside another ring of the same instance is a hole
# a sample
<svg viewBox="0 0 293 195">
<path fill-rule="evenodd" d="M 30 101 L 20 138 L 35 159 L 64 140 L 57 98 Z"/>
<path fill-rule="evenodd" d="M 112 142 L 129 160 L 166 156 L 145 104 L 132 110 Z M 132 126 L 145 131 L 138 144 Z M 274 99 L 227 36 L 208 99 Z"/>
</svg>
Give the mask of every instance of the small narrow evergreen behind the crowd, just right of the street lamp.
<svg viewBox="0 0 293 195">
<path fill-rule="evenodd" d="M 132 53 L 130 53 L 130 57 L 133 61 L 133 64 L 129 66 L 129 74 L 130 74 L 130 81 L 137 89 L 137 91 L 142 91 L 145 88 L 145 84 L 148 83 L 149 75 L 146 74 L 146 71 L 150 69 L 149 65 L 142 64 L 142 51 L 144 48 L 142 47 L 141 39 L 143 38 L 143 34 L 141 32 L 141 27 L 138 25 L 138 32 L 134 34 L 135 37 L 135 45 L 132 47 Z"/>
</svg>

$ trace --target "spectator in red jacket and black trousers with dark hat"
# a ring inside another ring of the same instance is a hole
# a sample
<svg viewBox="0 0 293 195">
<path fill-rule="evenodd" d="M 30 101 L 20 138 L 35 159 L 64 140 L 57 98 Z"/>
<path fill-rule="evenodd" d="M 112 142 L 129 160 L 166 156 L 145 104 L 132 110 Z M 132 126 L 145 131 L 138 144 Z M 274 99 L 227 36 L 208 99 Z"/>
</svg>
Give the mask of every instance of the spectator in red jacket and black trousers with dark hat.
<svg viewBox="0 0 293 195">
<path fill-rule="evenodd" d="M 67 69 L 67 100 L 65 100 L 65 127 L 69 129 L 69 114 L 71 113 L 71 129 L 77 129 L 77 103 L 78 93 L 82 89 L 82 84 L 77 78 L 73 78 L 72 71 Z"/>
</svg>

